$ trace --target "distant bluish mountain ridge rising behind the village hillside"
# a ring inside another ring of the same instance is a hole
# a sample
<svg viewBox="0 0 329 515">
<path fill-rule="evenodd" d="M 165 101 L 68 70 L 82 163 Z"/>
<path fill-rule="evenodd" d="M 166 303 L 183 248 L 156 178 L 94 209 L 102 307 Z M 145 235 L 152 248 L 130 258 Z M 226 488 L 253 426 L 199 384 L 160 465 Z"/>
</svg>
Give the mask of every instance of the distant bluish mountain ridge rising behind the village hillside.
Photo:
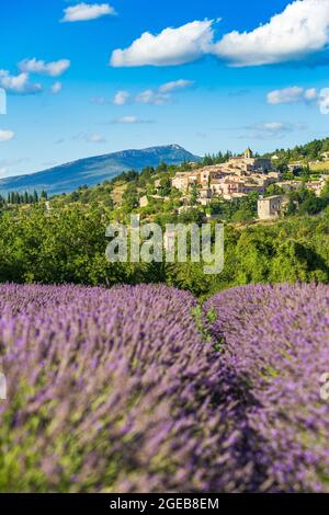
<svg viewBox="0 0 329 515">
<path fill-rule="evenodd" d="M 29 175 L 1 179 L 0 194 L 34 190 L 37 192 L 45 190 L 48 195 L 69 193 L 84 184 L 93 186 L 106 179 L 113 179 L 127 170 L 140 171 L 145 167 L 157 167 L 162 161 L 167 164 L 180 164 L 184 161 L 198 161 L 200 159 L 179 145 L 150 147 L 143 150 L 123 150 L 79 159 Z"/>
</svg>

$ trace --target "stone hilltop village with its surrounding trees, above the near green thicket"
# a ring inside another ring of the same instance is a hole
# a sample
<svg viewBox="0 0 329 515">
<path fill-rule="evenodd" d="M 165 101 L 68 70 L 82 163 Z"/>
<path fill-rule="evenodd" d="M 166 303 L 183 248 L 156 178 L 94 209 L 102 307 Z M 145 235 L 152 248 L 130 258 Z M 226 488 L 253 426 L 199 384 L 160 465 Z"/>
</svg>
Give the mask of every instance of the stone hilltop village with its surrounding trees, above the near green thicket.
<svg viewBox="0 0 329 515">
<path fill-rule="evenodd" d="M 329 211 L 329 151 L 324 150 L 329 141 L 325 142 L 315 141 L 296 151 L 277 149 L 262 157 L 247 148 L 241 156 L 218 152 L 179 164 L 163 160 L 157 167 L 124 171 L 69 194 L 47 197 L 43 192 L 38 203 L 46 211 L 79 204 L 84 209 L 103 209 L 110 220 L 127 222 L 136 214 L 141 221 L 160 225 L 212 219 L 253 224 L 313 216 Z M 30 196 L 16 192 L 8 199 L 0 196 L 0 210 L 29 209 L 34 201 Z"/>
</svg>

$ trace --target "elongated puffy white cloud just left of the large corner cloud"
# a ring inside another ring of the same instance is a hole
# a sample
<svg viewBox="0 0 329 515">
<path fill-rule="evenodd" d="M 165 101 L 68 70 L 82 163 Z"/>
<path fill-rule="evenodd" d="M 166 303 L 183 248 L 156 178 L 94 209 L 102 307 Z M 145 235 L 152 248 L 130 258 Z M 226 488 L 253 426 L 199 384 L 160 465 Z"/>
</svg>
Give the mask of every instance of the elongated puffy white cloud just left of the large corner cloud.
<svg viewBox="0 0 329 515">
<path fill-rule="evenodd" d="M 208 54 L 213 43 L 213 20 L 194 21 L 160 34 L 145 32 L 126 49 L 112 53 L 114 67 L 170 66 L 191 62 Z"/>
</svg>

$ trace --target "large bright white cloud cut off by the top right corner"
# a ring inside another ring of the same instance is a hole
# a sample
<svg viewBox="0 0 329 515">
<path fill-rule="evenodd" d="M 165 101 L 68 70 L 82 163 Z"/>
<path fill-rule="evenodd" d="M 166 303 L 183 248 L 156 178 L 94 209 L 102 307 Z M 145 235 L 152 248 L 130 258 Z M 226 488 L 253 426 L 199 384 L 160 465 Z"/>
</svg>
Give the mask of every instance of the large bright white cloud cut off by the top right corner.
<svg viewBox="0 0 329 515">
<path fill-rule="evenodd" d="M 295 0 L 251 32 L 234 31 L 214 46 L 232 66 L 300 60 L 329 43 L 329 0 Z"/>
</svg>

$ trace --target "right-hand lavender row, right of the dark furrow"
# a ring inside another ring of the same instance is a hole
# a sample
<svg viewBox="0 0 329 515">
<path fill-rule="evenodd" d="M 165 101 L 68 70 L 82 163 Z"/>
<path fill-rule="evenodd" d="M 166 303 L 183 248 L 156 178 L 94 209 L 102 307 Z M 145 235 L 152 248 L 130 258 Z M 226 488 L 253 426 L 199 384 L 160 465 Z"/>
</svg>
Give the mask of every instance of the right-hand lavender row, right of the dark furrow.
<svg viewBox="0 0 329 515">
<path fill-rule="evenodd" d="M 259 491 L 329 491 L 329 288 L 247 286 L 205 305 L 228 394 L 243 405 Z M 256 478 L 256 476 L 253 476 Z"/>
</svg>

